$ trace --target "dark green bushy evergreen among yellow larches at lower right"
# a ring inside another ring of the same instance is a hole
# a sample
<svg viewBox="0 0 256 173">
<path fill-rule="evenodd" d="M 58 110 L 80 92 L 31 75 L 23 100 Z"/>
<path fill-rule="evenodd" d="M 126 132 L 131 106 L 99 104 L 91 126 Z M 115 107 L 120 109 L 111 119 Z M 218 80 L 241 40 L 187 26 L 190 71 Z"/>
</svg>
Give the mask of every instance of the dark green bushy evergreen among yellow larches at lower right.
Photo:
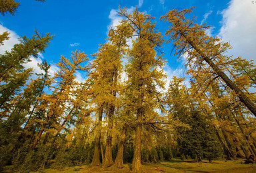
<svg viewBox="0 0 256 173">
<path fill-rule="evenodd" d="M 209 162 L 220 153 L 219 141 L 211 123 L 200 112 L 191 112 L 186 120 L 190 128 L 178 128 L 181 138 L 178 138 L 179 151 L 185 156 L 191 156 L 198 162 L 207 158 Z"/>
</svg>

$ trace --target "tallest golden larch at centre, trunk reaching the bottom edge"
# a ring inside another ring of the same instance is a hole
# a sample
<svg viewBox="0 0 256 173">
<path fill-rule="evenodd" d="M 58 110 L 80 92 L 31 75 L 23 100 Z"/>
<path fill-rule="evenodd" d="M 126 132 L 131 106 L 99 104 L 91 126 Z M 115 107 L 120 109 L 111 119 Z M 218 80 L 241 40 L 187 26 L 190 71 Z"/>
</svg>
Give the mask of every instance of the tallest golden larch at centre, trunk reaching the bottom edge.
<svg viewBox="0 0 256 173">
<path fill-rule="evenodd" d="M 154 110 L 157 106 L 152 100 L 157 100 L 157 86 L 164 87 L 163 65 L 165 61 L 161 55 L 157 55 L 156 49 L 161 46 L 163 39 L 161 33 L 155 29 L 155 23 L 151 23 L 153 17 L 141 13 L 135 9 L 133 13 L 127 13 L 127 9 L 120 9 L 119 14 L 125 20 L 135 35 L 132 41 L 133 47 L 128 53 L 129 59 L 126 67 L 129 98 L 133 110 L 137 116 L 135 146 L 133 155 L 133 172 L 142 172 L 141 168 L 141 132 L 143 118 L 146 112 Z M 153 103 L 153 104 L 152 104 Z"/>
</svg>

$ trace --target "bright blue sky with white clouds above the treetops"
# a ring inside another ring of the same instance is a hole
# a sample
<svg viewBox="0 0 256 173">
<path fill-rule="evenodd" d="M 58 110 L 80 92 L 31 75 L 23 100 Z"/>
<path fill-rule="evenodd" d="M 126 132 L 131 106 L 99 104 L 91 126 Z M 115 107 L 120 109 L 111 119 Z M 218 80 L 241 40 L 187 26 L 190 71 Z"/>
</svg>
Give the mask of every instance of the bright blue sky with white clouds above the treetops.
<svg viewBox="0 0 256 173">
<path fill-rule="evenodd" d="M 241 55 L 247 59 L 256 59 L 256 0 L 46 0 L 41 3 L 33 0 L 21 0 L 15 16 L 6 14 L 0 16 L 0 33 L 7 30 L 12 33 L 11 39 L 1 48 L 9 49 L 17 43 L 17 37 L 27 35 L 31 37 L 34 30 L 39 33 L 55 35 L 50 46 L 45 49 L 42 59 L 53 64 L 52 71 L 57 68 L 54 64 L 61 55 L 69 57 L 76 49 L 87 55 L 97 52 L 99 44 L 105 43 L 108 27 L 118 20 L 115 11 L 121 7 L 149 13 L 157 21 L 157 29 L 164 33 L 167 23 L 159 21 L 173 8 L 185 9 L 196 7 L 193 15 L 197 16 L 197 23 L 207 22 L 213 29 L 211 35 L 218 35 L 224 41 L 233 45 L 232 55 Z M 164 46 L 164 57 L 167 59 L 165 71 L 168 79 L 171 76 L 183 76 L 181 61 L 171 55 L 171 45 Z M 89 56 L 90 57 L 90 56 Z M 34 67 L 40 59 L 31 63 Z"/>
</svg>

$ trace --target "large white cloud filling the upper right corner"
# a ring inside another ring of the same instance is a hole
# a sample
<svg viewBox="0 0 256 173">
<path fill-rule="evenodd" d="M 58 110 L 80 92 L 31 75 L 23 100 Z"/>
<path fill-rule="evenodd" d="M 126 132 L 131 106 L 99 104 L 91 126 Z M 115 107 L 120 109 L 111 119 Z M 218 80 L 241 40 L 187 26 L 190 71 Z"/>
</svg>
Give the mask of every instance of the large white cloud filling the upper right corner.
<svg viewBox="0 0 256 173">
<path fill-rule="evenodd" d="M 251 1 L 231 0 L 229 7 L 221 14 L 223 19 L 219 37 L 233 47 L 229 54 L 255 61 L 256 5 Z"/>
</svg>

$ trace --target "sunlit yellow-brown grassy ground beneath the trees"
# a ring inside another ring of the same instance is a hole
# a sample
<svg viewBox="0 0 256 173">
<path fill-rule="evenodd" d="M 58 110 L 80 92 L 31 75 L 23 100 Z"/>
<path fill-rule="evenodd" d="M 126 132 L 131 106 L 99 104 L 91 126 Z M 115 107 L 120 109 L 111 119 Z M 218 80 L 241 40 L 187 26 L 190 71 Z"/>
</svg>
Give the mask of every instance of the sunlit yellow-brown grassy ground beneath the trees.
<svg viewBox="0 0 256 173">
<path fill-rule="evenodd" d="M 256 164 L 243 164 L 244 159 L 239 160 L 213 160 L 212 163 L 203 160 L 198 163 L 194 160 L 180 160 L 173 158 L 171 162 L 161 162 L 159 164 L 147 163 L 143 164 L 143 172 L 227 172 L 227 173 L 240 173 L 240 172 L 256 172 Z M 115 166 L 109 168 L 90 167 L 90 166 L 74 166 L 67 167 L 60 170 L 45 169 L 41 172 L 45 173 L 68 173 L 68 172 L 131 172 L 131 164 L 125 164 L 124 168 L 118 169 Z"/>
</svg>

